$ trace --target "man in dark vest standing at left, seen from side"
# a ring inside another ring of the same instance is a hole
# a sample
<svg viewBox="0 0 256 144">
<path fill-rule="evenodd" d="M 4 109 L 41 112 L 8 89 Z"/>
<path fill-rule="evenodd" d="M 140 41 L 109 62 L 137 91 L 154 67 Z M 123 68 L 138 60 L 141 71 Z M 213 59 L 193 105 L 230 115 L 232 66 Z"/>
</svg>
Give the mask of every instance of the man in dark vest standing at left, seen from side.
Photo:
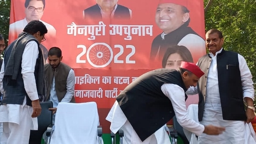
<svg viewBox="0 0 256 144">
<path fill-rule="evenodd" d="M 46 26 L 30 21 L 5 50 L 0 72 L 0 106 L 3 122 L 1 144 L 28 144 L 30 130 L 37 130 L 41 114 L 39 101 L 45 97 L 42 50 Z"/>
</svg>

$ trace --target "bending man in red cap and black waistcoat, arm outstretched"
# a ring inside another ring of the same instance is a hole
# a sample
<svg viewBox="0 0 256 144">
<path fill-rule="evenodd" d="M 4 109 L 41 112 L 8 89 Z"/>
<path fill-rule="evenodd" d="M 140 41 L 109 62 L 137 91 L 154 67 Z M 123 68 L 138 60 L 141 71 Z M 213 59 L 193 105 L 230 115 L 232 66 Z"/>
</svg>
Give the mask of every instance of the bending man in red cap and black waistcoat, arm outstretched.
<svg viewBox="0 0 256 144">
<path fill-rule="evenodd" d="M 181 62 L 178 70 L 156 69 L 139 76 L 118 96 L 106 120 L 111 131 L 124 130 L 124 144 L 171 144 L 165 124 L 174 115 L 196 135 L 218 135 L 225 128 L 202 125 L 187 117 L 185 91 L 204 73 L 194 63 Z"/>
</svg>

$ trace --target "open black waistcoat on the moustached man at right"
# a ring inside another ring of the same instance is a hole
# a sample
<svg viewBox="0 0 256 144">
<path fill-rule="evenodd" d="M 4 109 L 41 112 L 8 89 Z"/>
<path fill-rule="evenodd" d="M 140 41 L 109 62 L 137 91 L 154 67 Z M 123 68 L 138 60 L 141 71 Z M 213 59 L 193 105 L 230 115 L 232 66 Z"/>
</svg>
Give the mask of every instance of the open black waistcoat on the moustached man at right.
<svg viewBox="0 0 256 144">
<path fill-rule="evenodd" d="M 199 109 L 198 119 L 202 121 L 206 96 L 206 83 L 211 57 L 204 55 L 198 61 L 198 66 L 205 73 L 198 82 Z M 242 82 L 238 62 L 238 54 L 222 49 L 217 55 L 217 70 L 221 109 L 224 120 L 246 120 L 243 104 Z"/>
</svg>

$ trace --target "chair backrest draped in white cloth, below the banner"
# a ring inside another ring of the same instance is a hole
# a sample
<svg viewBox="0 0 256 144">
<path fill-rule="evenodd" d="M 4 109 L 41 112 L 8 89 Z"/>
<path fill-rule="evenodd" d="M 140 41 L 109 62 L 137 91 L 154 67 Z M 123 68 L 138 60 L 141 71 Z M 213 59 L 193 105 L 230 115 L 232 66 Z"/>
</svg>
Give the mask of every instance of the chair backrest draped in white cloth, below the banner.
<svg viewBox="0 0 256 144">
<path fill-rule="evenodd" d="M 97 104 L 59 103 L 50 144 L 97 144 Z"/>
</svg>

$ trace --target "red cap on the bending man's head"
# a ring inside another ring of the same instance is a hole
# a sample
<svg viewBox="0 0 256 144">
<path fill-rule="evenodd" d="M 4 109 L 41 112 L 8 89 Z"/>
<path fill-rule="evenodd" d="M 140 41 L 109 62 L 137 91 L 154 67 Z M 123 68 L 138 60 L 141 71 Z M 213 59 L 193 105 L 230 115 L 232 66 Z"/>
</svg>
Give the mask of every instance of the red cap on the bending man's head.
<svg viewBox="0 0 256 144">
<path fill-rule="evenodd" d="M 196 64 L 194 64 L 192 62 L 182 61 L 180 64 L 180 68 L 189 70 L 194 75 L 196 75 L 198 78 L 200 78 L 202 75 L 204 75 L 204 72 L 202 72 L 201 69 Z"/>
</svg>

